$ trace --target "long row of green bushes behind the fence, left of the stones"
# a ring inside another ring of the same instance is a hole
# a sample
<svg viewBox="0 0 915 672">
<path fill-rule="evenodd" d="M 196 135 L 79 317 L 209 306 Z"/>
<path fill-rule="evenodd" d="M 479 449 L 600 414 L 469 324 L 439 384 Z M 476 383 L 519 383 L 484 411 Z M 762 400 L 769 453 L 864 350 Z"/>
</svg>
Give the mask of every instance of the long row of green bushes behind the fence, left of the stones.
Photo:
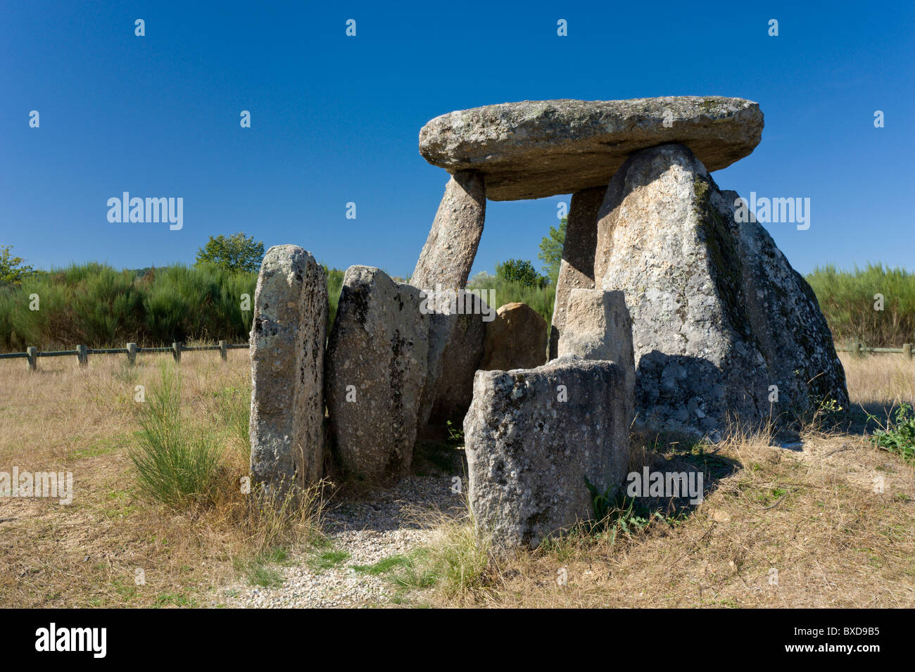
<svg viewBox="0 0 915 672">
<path fill-rule="evenodd" d="M 180 264 L 142 272 L 100 263 L 36 272 L 0 286 L 0 346 L 141 347 L 190 340 L 247 341 L 257 274 L 215 264 Z M 38 294 L 38 310 L 30 310 Z M 248 294 L 247 309 L 242 296 Z"/>
</svg>

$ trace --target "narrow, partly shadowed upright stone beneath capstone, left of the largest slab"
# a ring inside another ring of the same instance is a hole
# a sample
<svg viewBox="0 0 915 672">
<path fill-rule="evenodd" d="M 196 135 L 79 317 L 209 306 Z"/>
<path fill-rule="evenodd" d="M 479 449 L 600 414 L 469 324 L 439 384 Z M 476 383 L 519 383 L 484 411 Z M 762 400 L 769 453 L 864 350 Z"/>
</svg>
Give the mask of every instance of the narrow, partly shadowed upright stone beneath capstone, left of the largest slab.
<svg viewBox="0 0 915 672">
<path fill-rule="evenodd" d="M 573 289 L 594 289 L 594 250 L 597 247 L 597 213 L 607 187 L 585 189 L 572 195 L 565 224 L 563 259 L 556 280 L 553 321 L 550 326 L 549 358 L 555 359 L 556 347 L 565 325 L 565 303 Z"/>
</svg>

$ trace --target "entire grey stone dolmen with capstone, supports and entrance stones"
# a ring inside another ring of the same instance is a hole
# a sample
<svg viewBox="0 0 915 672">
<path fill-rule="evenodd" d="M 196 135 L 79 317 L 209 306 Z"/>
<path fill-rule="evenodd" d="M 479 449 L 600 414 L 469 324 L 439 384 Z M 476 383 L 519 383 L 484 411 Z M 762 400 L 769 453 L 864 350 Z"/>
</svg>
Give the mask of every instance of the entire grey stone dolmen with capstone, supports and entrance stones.
<svg viewBox="0 0 915 672">
<path fill-rule="evenodd" d="M 469 506 L 507 551 L 617 494 L 630 429 L 715 440 L 847 408 L 813 291 L 710 174 L 762 128 L 757 103 L 718 96 L 523 101 L 425 124 L 420 154 L 450 177 L 408 283 L 350 267 L 327 335 L 314 258 L 264 258 L 255 482 L 387 482 L 411 473 L 430 422 L 463 420 Z M 487 199 L 561 194 L 552 324 L 468 292 Z"/>
</svg>

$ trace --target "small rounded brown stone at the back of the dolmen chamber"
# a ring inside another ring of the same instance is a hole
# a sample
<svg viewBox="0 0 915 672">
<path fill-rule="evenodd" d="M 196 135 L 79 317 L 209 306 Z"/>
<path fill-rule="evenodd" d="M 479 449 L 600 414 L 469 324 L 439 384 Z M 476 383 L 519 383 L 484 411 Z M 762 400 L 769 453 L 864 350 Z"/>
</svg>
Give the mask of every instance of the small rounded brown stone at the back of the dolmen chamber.
<svg viewBox="0 0 915 672">
<path fill-rule="evenodd" d="M 505 304 L 486 325 L 479 368 L 508 371 L 546 361 L 546 320 L 528 304 Z"/>
</svg>

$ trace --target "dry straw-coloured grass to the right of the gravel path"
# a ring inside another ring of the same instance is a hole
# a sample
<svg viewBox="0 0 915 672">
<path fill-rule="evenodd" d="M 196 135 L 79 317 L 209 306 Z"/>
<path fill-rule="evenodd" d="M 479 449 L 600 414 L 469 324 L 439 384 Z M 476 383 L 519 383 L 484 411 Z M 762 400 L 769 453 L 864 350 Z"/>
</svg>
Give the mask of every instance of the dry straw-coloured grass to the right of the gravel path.
<svg viewBox="0 0 915 672">
<path fill-rule="evenodd" d="M 844 359 L 853 406 L 915 399 L 915 362 Z M 715 446 L 640 438 L 631 466 L 700 468 L 705 501 L 611 538 L 582 529 L 493 560 L 462 603 L 491 607 L 912 607 L 915 468 L 862 433 L 807 432 L 803 451 L 766 432 Z M 879 492 L 877 484 L 882 484 Z M 454 535 L 452 535 L 453 537 Z M 559 579 L 565 576 L 565 585 Z M 431 592 L 447 605 L 447 592 Z"/>
</svg>

